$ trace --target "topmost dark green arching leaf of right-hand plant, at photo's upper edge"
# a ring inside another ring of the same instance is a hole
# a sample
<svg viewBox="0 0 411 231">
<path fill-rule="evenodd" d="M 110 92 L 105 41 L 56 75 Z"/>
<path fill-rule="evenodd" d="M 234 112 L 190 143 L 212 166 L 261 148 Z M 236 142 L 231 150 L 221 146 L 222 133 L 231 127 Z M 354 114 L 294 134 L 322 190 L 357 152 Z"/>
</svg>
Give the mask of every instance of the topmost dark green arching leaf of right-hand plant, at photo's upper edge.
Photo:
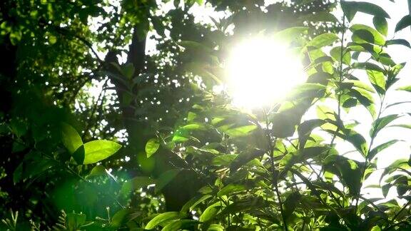
<svg viewBox="0 0 411 231">
<path fill-rule="evenodd" d="M 348 21 L 354 19 L 358 11 L 373 16 L 390 19 L 390 15 L 380 6 L 363 1 L 341 1 L 341 8 Z"/>
</svg>

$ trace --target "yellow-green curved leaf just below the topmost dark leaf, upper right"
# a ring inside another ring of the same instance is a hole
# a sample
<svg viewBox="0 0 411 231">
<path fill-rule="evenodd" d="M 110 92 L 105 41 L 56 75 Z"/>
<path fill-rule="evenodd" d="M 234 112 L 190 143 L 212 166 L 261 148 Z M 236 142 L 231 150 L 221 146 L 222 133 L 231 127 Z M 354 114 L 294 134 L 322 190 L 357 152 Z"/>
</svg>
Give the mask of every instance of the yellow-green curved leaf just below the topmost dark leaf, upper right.
<svg viewBox="0 0 411 231">
<path fill-rule="evenodd" d="M 379 46 L 385 45 L 384 36 L 370 26 L 354 24 L 350 27 L 352 31 L 352 41 L 356 43 L 373 43 Z"/>
</svg>

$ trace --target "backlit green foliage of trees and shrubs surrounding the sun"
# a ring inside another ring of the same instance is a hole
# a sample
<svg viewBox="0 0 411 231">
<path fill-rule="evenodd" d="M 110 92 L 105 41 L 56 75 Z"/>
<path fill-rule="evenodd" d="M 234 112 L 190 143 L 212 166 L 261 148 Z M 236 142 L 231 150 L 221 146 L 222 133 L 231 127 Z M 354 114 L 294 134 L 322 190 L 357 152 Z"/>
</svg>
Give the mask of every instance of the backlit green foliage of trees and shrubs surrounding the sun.
<svg viewBox="0 0 411 231">
<path fill-rule="evenodd" d="M 378 155 L 401 141 L 377 143 L 381 131 L 410 129 L 395 124 L 410 115 L 387 113 L 409 102 L 387 105 L 386 96 L 411 89 L 395 86 L 405 63 L 387 47 L 410 43 L 387 40 L 384 9 L 362 1 L 168 4 L 0 3 L 1 228 L 411 229 L 411 160 L 395 160 L 379 185 L 368 184 Z M 225 14 L 197 22 L 198 5 Z M 358 12 L 372 25 L 351 24 Z M 395 31 L 410 25 L 405 16 Z M 230 43 L 262 34 L 286 41 L 308 79 L 282 101 L 244 111 L 213 86 L 226 81 Z M 156 41 L 150 55 L 148 37 Z M 347 119 L 361 110 L 368 133 Z M 364 193 L 372 187 L 384 198 Z"/>
</svg>

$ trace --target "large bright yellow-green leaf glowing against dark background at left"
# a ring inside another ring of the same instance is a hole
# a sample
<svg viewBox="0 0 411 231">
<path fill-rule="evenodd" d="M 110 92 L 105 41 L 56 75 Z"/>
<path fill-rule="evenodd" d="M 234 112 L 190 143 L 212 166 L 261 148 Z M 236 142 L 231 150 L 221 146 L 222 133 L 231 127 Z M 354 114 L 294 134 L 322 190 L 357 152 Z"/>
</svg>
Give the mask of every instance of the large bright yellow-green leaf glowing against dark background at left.
<svg viewBox="0 0 411 231">
<path fill-rule="evenodd" d="M 116 153 L 121 148 L 110 140 L 93 140 L 84 144 L 84 165 L 97 163 Z"/>
</svg>

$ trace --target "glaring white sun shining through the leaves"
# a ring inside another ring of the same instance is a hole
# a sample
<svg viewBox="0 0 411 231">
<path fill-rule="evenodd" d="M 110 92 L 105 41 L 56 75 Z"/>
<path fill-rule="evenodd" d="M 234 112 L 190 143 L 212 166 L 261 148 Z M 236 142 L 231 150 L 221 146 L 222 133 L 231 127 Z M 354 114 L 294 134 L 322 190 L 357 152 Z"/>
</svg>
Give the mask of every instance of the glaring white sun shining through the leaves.
<svg viewBox="0 0 411 231">
<path fill-rule="evenodd" d="M 228 92 L 241 108 L 271 106 L 305 81 L 300 58 L 284 43 L 265 37 L 238 43 L 227 67 Z"/>
</svg>

